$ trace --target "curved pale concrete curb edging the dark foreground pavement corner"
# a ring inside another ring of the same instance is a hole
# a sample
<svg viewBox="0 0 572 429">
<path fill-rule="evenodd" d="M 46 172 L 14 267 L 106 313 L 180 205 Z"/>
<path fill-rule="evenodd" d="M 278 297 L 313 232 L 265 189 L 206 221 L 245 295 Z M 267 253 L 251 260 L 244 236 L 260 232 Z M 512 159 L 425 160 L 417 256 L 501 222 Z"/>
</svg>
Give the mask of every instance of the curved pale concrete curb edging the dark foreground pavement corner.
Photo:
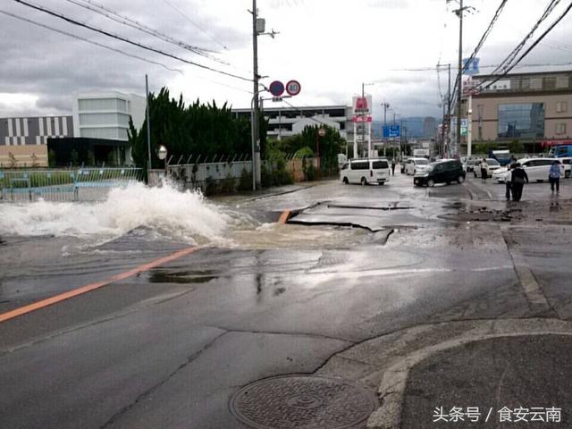
<svg viewBox="0 0 572 429">
<path fill-rule="evenodd" d="M 456 324 L 451 322 L 450 324 Z M 442 324 L 444 328 L 447 324 Z M 416 328 L 410 328 L 414 330 Z M 408 330 L 406 330 L 408 331 Z M 571 335 L 572 322 L 559 319 L 491 320 L 457 338 L 418 349 L 407 357 L 400 358 L 383 373 L 382 383 L 377 391 L 382 406 L 367 420 L 367 429 L 400 429 L 403 400 L 409 371 L 434 354 L 447 349 L 464 346 L 470 342 L 486 341 L 502 337 L 528 335 Z"/>
</svg>

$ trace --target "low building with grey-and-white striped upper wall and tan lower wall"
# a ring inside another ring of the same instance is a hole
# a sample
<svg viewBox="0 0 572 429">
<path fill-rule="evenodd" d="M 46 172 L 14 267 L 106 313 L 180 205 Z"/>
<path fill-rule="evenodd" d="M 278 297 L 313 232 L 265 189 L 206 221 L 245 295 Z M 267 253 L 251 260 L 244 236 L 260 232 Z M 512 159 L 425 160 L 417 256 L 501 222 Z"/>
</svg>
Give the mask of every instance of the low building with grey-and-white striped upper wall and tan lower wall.
<svg viewBox="0 0 572 429">
<path fill-rule="evenodd" d="M 47 165 L 47 139 L 72 137 L 71 116 L 0 118 L 0 167 Z"/>
</svg>

